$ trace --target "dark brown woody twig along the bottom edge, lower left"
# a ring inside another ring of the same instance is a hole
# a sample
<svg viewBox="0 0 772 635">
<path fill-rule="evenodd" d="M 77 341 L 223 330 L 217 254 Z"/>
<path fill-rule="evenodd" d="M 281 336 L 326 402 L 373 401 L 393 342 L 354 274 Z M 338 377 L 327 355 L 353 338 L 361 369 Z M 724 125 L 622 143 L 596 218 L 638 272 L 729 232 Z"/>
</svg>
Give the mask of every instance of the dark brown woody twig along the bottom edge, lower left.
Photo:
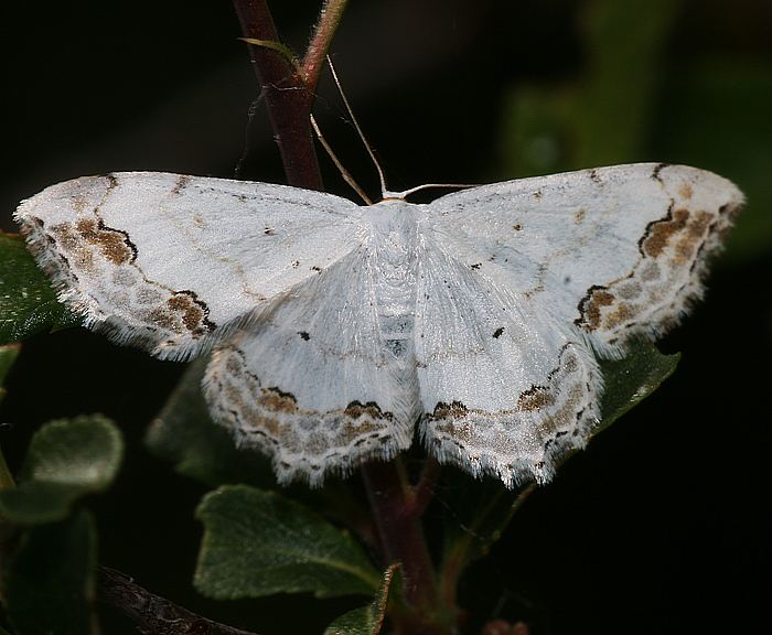
<svg viewBox="0 0 772 635">
<path fill-rule="evenodd" d="M 97 600 L 131 621 L 142 635 L 256 635 L 196 615 L 107 567 L 99 567 Z"/>
</svg>

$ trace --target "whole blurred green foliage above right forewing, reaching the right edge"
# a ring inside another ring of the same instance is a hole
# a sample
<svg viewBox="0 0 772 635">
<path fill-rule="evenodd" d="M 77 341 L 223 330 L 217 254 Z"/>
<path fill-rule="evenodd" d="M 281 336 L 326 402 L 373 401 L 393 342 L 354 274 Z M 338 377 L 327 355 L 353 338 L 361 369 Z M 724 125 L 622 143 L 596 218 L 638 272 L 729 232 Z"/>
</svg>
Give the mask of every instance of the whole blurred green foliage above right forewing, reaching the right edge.
<svg viewBox="0 0 772 635">
<path fill-rule="evenodd" d="M 772 244 L 772 60 L 695 57 L 669 66 L 683 0 L 592 0 L 585 65 L 559 85 L 517 84 L 502 108 L 502 177 L 663 161 L 728 176 L 749 204 L 727 258 Z"/>
</svg>

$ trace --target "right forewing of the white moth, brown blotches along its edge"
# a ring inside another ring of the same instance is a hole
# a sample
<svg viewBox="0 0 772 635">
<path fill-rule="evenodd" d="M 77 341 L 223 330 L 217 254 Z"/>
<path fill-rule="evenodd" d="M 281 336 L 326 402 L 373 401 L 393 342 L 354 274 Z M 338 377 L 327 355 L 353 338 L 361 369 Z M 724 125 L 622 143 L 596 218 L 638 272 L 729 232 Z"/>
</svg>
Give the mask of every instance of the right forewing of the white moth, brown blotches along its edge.
<svg viewBox="0 0 772 635">
<path fill-rule="evenodd" d="M 701 295 L 706 262 L 742 202 L 710 172 L 641 163 L 450 194 L 428 206 L 426 224 L 476 276 L 616 356 Z"/>
</svg>

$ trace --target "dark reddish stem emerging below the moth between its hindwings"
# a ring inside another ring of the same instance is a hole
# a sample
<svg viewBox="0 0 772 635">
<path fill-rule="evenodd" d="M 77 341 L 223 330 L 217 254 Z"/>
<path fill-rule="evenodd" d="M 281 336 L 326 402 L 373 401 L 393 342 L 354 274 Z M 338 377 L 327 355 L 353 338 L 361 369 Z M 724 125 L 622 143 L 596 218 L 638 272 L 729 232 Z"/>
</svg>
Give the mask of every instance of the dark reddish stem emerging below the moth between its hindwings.
<svg viewBox="0 0 772 635">
<path fill-rule="evenodd" d="M 409 612 L 393 615 L 400 634 L 449 633 L 437 604 L 437 579 L 420 516 L 411 513 L 415 494 L 400 474 L 401 463 L 373 462 L 362 467 L 371 508 L 387 564 L 401 562 L 403 599 Z"/>
</svg>

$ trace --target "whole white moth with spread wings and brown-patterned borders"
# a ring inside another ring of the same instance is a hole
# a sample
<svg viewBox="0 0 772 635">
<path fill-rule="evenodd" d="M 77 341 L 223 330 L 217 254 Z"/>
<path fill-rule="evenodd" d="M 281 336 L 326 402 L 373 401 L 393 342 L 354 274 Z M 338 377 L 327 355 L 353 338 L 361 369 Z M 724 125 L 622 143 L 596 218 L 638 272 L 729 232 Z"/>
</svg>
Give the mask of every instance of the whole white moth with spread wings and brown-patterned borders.
<svg viewBox="0 0 772 635">
<path fill-rule="evenodd" d="M 213 351 L 212 417 L 312 485 L 408 448 L 507 487 L 599 420 L 596 356 L 703 292 L 742 194 L 631 164 L 362 207 L 154 172 L 76 179 L 15 213 L 60 299 L 152 355 Z"/>
</svg>

